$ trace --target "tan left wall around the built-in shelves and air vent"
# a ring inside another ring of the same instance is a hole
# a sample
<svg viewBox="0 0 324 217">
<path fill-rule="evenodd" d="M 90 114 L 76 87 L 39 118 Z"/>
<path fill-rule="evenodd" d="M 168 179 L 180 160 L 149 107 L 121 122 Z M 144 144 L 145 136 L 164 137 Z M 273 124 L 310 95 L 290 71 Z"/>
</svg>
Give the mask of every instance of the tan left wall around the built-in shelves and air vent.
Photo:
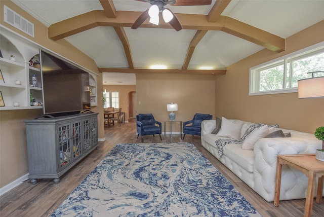
<svg viewBox="0 0 324 217">
<path fill-rule="evenodd" d="M 34 24 L 35 38 L 21 32 L 13 26 L 4 22 L 4 5 L 14 10 L 28 21 Z M 44 46 L 45 48 L 57 53 L 76 64 L 98 73 L 96 63 L 84 53 L 77 50 L 65 40 L 52 41 L 48 39 L 48 29 L 41 22 L 34 19 L 28 13 L 20 9 L 11 1 L 0 1 L 0 23 L 7 28 L 21 34 L 23 37 L 28 38 L 35 43 Z M 102 78 L 101 75 L 97 77 L 98 93 L 102 92 Z M 98 106 L 93 106 L 92 111 L 98 112 L 103 116 L 102 99 L 98 98 Z M 101 99 L 101 100 L 100 100 Z M 27 147 L 26 147 L 26 133 L 25 124 L 23 120 L 33 119 L 41 116 L 42 110 L 12 110 L 0 112 L 0 188 L 8 185 L 17 178 L 28 173 L 27 161 Z M 104 138 L 103 122 L 98 121 L 99 138 Z"/>
</svg>

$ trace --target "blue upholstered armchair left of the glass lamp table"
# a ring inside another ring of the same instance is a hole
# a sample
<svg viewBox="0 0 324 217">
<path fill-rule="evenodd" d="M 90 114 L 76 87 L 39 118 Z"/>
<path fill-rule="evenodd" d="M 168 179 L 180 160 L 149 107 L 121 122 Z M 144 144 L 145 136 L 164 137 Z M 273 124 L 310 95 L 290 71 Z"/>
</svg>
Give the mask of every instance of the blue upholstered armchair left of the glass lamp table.
<svg viewBox="0 0 324 217">
<path fill-rule="evenodd" d="M 161 138 L 162 124 L 159 121 L 155 121 L 152 114 L 139 114 L 136 116 L 136 128 L 137 138 L 139 135 L 142 136 L 141 142 L 144 140 L 144 135 L 158 134 Z"/>
</svg>

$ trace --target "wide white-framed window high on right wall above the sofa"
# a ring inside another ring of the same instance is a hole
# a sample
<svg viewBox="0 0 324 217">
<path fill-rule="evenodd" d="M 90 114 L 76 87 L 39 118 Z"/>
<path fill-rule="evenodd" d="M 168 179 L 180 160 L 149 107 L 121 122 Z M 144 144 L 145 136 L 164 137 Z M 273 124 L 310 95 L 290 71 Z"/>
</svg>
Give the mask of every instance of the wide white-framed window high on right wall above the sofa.
<svg viewBox="0 0 324 217">
<path fill-rule="evenodd" d="M 323 71 L 324 42 L 250 68 L 249 95 L 297 92 L 298 80 L 322 77 Z"/>
</svg>

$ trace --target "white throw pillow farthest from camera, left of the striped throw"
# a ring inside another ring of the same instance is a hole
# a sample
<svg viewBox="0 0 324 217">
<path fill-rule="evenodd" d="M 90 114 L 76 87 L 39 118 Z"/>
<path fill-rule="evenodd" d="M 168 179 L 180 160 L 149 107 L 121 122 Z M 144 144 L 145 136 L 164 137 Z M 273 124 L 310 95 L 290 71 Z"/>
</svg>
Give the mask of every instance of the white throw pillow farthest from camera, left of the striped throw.
<svg viewBox="0 0 324 217">
<path fill-rule="evenodd" d="M 239 140 L 243 124 L 244 122 L 233 122 L 222 117 L 221 129 L 217 133 L 217 136 L 229 137 Z"/>
</svg>

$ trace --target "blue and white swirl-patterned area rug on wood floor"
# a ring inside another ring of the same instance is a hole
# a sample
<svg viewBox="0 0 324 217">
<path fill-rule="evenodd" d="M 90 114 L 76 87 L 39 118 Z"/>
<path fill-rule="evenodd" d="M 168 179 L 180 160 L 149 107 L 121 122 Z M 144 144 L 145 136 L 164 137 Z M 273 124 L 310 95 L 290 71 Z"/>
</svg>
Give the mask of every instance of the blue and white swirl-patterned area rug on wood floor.
<svg viewBox="0 0 324 217">
<path fill-rule="evenodd" d="M 52 216 L 261 216 L 191 143 L 117 144 Z"/>
</svg>

